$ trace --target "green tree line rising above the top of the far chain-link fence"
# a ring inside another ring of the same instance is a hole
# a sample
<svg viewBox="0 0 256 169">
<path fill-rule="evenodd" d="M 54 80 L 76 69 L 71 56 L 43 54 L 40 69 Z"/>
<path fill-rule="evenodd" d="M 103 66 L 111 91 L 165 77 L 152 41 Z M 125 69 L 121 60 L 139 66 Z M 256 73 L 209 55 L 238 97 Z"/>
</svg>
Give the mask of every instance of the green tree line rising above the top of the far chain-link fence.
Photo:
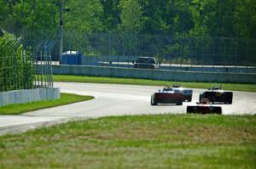
<svg viewBox="0 0 256 169">
<path fill-rule="evenodd" d="M 66 31 L 256 37 L 255 0 L 63 0 Z M 0 28 L 55 35 L 60 0 L 0 0 Z M 1 36 L 1 34 L 0 34 Z"/>
</svg>

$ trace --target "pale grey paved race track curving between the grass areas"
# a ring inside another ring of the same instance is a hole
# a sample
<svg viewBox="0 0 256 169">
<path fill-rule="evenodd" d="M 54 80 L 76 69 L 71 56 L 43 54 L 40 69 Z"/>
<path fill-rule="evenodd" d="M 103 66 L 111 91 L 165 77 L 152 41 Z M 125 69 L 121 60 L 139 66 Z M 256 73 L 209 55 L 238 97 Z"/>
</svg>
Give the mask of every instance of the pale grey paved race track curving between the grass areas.
<svg viewBox="0 0 256 169">
<path fill-rule="evenodd" d="M 194 89 L 192 102 L 183 105 L 151 106 L 150 95 L 160 87 L 55 82 L 62 93 L 92 95 L 96 99 L 55 108 L 36 110 L 23 115 L 1 115 L 0 134 L 24 132 L 35 127 L 63 121 L 96 118 L 107 115 L 184 114 L 187 105 L 195 104 L 204 89 Z M 233 104 L 220 104 L 224 115 L 253 115 L 256 113 L 256 93 L 234 92 Z"/>
</svg>

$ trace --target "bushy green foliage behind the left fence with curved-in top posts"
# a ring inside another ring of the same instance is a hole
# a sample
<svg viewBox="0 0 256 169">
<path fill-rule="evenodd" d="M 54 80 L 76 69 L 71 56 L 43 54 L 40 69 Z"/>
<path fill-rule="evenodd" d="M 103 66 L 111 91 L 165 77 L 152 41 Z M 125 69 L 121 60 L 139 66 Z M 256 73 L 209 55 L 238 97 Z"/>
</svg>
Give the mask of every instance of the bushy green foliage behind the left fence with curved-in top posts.
<svg viewBox="0 0 256 169">
<path fill-rule="evenodd" d="M 0 38 L 0 92 L 33 87 L 31 54 L 10 37 Z"/>
</svg>

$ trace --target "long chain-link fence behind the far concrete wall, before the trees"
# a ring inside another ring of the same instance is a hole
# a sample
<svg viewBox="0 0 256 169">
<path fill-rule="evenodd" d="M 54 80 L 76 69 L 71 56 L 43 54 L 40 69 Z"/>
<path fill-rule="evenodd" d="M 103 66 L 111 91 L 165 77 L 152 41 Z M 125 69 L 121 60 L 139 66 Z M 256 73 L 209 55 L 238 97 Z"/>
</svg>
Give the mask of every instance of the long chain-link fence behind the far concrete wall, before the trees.
<svg viewBox="0 0 256 169">
<path fill-rule="evenodd" d="M 158 63 L 166 66 L 256 65 L 256 39 L 78 32 L 65 32 L 63 37 L 63 52 L 79 51 L 84 56 L 84 65 L 125 66 L 139 56 L 155 57 Z"/>
</svg>

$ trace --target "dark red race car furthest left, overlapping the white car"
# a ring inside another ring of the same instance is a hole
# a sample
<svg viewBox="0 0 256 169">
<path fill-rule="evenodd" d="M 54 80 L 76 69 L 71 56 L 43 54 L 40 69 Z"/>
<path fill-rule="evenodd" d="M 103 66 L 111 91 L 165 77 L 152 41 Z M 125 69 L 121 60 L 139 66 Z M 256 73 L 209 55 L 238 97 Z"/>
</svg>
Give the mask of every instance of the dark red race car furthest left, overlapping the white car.
<svg viewBox="0 0 256 169">
<path fill-rule="evenodd" d="M 151 95 L 151 105 L 157 104 L 177 104 L 182 105 L 185 96 L 183 93 L 174 92 L 172 87 L 164 87 L 159 90 L 158 93 L 153 93 Z"/>
</svg>

